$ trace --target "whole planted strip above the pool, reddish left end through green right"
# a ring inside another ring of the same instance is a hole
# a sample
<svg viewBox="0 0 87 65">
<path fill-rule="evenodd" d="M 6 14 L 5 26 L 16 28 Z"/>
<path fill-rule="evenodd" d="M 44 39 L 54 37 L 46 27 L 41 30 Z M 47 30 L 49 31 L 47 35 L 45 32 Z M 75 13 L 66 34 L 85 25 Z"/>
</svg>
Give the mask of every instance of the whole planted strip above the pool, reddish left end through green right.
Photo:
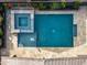
<svg viewBox="0 0 87 65">
<path fill-rule="evenodd" d="M 6 9 L 12 8 L 12 7 L 26 7 L 31 6 L 34 9 L 39 10 L 61 10 L 61 9 L 78 9 L 80 6 L 80 1 L 74 1 L 73 3 L 69 2 L 30 2 L 30 3 L 11 3 L 7 4 L 4 3 Z M 2 8 L 3 4 L 0 6 Z"/>
</svg>

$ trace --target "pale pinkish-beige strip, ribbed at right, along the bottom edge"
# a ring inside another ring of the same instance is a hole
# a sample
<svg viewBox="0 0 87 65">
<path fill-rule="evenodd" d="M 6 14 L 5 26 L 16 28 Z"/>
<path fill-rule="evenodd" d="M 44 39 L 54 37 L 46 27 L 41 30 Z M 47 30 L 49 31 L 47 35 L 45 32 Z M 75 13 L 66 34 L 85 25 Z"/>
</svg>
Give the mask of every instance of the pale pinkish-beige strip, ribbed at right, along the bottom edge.
<svg viewBox="0 0 87 65">
<path fill-rule="evenodd" d="M 87 65 L 87 57 L 53 59 L 2 57 L 1 65 Z"/>
</svg>

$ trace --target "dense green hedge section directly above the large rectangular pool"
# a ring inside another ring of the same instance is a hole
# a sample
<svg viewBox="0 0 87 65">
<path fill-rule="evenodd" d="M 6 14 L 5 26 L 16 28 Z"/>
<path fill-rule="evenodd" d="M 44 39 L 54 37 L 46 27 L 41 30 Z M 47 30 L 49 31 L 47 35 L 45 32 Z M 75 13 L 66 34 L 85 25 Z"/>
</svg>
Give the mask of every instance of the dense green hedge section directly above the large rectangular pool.
<svg viewBox="0 0 87 65">
<path fill-rule="evenodd" d="M 78 9 L 80 2 L 32 2 L 31 6 L 39 10 Z"/>
</svg>

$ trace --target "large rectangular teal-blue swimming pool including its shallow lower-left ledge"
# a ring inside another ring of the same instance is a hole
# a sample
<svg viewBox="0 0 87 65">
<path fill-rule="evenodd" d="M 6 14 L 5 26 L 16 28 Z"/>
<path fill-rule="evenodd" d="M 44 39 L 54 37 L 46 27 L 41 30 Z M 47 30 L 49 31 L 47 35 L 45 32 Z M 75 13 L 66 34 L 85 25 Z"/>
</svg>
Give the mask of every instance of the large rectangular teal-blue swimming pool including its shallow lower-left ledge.
<svg viewBox="0 0 87 65">
<path fill-rule="evenodd" d="M 72 47 L 73 44 L 73 14 L 35 14 L 34 15 L 34 32 L 36 40 L 33 46 L 37 47 Z M 23 43 L 22 36 L 25 33 L 18 35 L 18 43 Z M 34 35 L 34 33 L 32 33 Z M 30 33 L 25 34 L 30 36 Z M 24 36 L 25 36 L 24 35 Z M 21 39 L 21 41 L 20 41 Z M 28 37 L 25 37 L 29 40 Z M 30 45 L 30 41 L 25 41 L 23 46 Z"/>
</svg>

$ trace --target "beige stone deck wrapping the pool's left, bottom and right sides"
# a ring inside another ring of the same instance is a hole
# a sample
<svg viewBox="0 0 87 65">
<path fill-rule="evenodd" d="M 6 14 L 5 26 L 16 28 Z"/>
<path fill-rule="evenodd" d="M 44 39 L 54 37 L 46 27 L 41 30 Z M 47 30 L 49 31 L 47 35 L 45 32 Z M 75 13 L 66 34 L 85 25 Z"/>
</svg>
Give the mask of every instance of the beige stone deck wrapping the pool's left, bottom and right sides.
<svg viewBox="0 0 87 65">
<path fill-rule="evenodd" d="M 61 11 L 65 12 L 65 11 Z M 58 57 L 77 57 L 78 55 L 87 55 L 87 42 L 86 42 L 86 20 L 87 20 L 87 8 L 80 7 L 74 12 L 74 23 L 77 23 L 77 37 L 74 37 L 74 47 L 18 47 L 18 35 L 11 33 L 11 18 L 8 14 L 7 23 L 7 51 L 12 57 L 30 57 L 30 58 L 58 58 Z"/>
</svg>

